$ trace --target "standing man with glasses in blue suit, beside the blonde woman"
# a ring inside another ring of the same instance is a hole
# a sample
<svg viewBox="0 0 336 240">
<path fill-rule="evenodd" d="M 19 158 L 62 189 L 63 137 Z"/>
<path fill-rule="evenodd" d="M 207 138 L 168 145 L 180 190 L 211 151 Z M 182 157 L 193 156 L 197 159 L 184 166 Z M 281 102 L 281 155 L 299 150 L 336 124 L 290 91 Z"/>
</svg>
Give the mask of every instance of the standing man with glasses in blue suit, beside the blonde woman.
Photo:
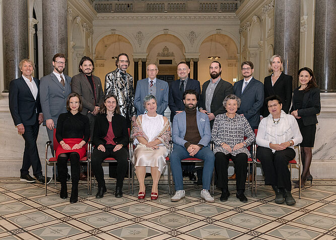
<svg viewBox="0 0 336 240">
<path fill-rule="evenodd" d="M 253 64 L 246 61 L 241 64 L 244 79 L 233 85 L 233 93 L 241 99 L 238 114 L 244 115 L 251 128 L 257 129 L 260 123 L 260 109 L 263 104 L 263 84 L 253 78 Z"/>
</svg>

